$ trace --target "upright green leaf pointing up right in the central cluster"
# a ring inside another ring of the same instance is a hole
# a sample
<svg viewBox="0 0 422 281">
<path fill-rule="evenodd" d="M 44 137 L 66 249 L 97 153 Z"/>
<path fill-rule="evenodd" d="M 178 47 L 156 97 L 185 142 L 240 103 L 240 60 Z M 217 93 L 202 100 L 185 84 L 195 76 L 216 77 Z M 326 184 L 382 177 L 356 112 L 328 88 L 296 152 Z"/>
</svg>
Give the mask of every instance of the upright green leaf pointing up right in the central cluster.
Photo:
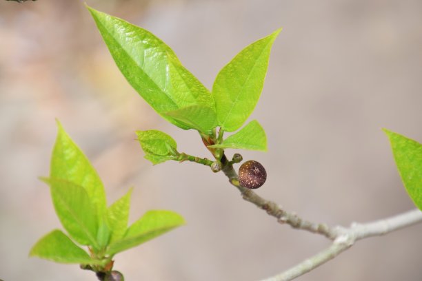
<svg viewBox="0 0 422 281">
<path fill-rule="evenodd" d="M 243 49 L 217 75 L 212 94 L 219 125 L 234 132 L 257 105 L 261 96 L 272 43 L 281 29 Z"/>
</svg>

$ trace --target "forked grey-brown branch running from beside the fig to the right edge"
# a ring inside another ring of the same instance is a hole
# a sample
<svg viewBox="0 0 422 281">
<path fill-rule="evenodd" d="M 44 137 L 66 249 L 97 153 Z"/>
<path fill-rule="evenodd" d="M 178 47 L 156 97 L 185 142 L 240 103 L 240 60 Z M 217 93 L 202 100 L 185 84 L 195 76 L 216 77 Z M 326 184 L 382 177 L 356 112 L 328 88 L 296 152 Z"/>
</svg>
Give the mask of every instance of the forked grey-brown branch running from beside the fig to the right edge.
<svg viewBox="0 0 422 281">
<path fill-rule="evenodd" d="M 303 262 L 295 265 L 287 271 L 262 281 L 293 280 L 294 278 L 297 278 L 305 273 L 308 273 L 312 269 L 319 267 L 321 264 L 332 260 L 336 256 L 339 256 L 340 253 L 352 247 L 353 244 L 358 240 L 372 236 L 381 236 L 383 234 L 390 233 L 391 231 L 422 222 L 422 211 L 419 209 L 414 209 L 412 211 L 392 216 L 390 218 L 376 220 L 374 222 L 365 224 L 354 222 L 349 228 L 340 226 L 329 227 L 323 223 L 315 223 L 308 220 L 303 220 L 297 216 L 297 214 L 285 211 L 281 206 L 277 205 L 277 203 L 262 198 L 251 189 L 242 187 L 239 183 L 239 178 L 236 171 L 234 171 L 232 163 L 230 163 L 230 161 L 228 161 L 225 156 L 223 156 L 221 159 L 221 164 L 223 165 L 222 171 L 224 172 L 225 176 L 229 178 L 229 181 L 232 185 L 239 189 L 244 200 L 251 202 L 257 207 L 267 211 L 270 216 L 277 218 L 277 221 L 281 224 L 286 223 L 295 229 L 303 229 L 312 233 L 319 233 L 328 239 L 333 240 L 330 247 L 317 253 L 312 258 L 303 260 Z"/>
</svg>

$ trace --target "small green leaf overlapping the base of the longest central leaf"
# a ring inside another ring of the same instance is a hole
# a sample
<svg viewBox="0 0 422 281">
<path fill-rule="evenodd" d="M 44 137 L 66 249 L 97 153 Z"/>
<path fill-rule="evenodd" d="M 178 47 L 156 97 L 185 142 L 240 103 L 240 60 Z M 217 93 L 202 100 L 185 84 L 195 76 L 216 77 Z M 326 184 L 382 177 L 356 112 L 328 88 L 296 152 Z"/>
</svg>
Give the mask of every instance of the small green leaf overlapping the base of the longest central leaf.
<svg viewBox="0 0 422 281">
<path fill-rule="evenodd" d="M 180 110 L 166 112 L 165 116 L 170 116 L 183 125 L 197 129 L 204 134 L 212 134 L 212 129 L 217 126 L 217 115 L 211 107 L 192 105 Z"/>
</svg>

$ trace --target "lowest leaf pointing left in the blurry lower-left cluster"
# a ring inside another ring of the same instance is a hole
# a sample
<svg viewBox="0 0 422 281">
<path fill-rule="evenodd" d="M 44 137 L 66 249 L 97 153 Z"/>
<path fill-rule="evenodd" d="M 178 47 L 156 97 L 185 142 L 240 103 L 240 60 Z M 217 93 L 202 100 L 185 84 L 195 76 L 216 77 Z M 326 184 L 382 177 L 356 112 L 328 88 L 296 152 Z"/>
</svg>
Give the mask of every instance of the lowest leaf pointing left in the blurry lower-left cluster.
<svg viewBox="0 0 422 281">
<path fill-rule="evenodd" d="M 55 229 L 41 238 L 30 251 L 30 256 L 61 263 L 96 264 L 86 251 L 74 244 L 65 233 Z"/>
</svg>

